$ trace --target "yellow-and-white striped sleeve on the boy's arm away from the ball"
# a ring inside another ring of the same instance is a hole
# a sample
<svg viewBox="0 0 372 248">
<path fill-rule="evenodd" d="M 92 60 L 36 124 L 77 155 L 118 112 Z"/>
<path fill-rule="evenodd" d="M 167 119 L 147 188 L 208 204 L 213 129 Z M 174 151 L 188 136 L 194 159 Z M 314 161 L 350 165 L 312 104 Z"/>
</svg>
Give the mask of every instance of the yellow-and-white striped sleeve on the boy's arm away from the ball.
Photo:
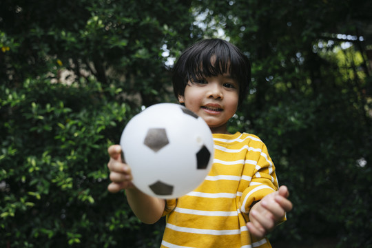
<svg viewBox="0 0 372 248">
<path fill-rule="evenodd" d="M 251 177 L 251 181 L 242 192 L 239 204 L 240 211 L 245 214 L 249 213 L 252 204 L 278 190 L 275 166 L 266 145 L 261 141 L 260 148 L 250 148 L 245 158 L 243 174 L 248 178 Z"/>
</svg>

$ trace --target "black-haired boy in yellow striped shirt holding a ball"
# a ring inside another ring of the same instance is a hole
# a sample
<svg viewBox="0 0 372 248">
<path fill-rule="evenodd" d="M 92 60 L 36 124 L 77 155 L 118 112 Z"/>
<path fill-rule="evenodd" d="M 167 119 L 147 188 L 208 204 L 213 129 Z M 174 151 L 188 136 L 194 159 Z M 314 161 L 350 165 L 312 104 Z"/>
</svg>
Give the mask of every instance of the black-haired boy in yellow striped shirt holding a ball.
<svg viewBox="0 0 372 248">
<path fill-rule="evenodd" d="M 161 247 L 271 247 L 265 235 L 291 210 L 265 144 L 253 134 L 227 131 L 246 96 L 250 70 L 247 57 L 221 39 L 199 41 L 178 59 L 174 94 L 209 125 L 215 148 L 211 172 L 186 196 L 163 200 L 143 194 L 121 161 L 121 147 L 109 147 L 109 191 L 125 189 L 143 223 L 167 216 Z"/>
</svg>

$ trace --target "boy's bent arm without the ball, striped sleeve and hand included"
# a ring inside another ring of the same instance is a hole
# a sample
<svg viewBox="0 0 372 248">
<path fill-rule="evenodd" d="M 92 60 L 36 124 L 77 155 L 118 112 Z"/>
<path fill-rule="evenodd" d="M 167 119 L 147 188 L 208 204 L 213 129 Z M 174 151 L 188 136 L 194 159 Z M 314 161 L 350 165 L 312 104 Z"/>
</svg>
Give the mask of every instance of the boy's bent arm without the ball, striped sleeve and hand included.
<svg viewBox="0 0 372 248">
<path fill-rule="evenodd" d="M 285 212 L 291 211 L 292 203 L 287 200 L 287 187 L 278 189 L 276 169 L 264 143 L 251 141 L 251 152 L 247 153 L 243 174 L 251 176 L 251 182 L 242 194 L 240 210 L 248 215 L 247 228 L 252 236 L 263 238 L 278 223 L 285 220 Z M 255 163 L 256 161 L 256 163 Z"/>
</svg>

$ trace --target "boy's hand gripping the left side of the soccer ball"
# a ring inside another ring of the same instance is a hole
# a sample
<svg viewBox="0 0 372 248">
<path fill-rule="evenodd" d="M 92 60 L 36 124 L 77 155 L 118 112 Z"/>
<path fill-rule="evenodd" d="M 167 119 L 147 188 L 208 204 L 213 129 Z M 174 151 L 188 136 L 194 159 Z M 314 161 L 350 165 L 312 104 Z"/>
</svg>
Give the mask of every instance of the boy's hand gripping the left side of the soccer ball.
<svg viewBox="0 0 372 248">
<path fill-rule="evenodd" d="M 121 189 L 134 187 L 130 167 L 121 161 L 121 146 L 111 145 L 108 148 L 108 153 L 110 161 L 107 163 L 107 167 L 110 169 L 110 180 L 112 180 L 112 183 L 107 187 L 108 191 L 116 193 Z"/>
</svg>

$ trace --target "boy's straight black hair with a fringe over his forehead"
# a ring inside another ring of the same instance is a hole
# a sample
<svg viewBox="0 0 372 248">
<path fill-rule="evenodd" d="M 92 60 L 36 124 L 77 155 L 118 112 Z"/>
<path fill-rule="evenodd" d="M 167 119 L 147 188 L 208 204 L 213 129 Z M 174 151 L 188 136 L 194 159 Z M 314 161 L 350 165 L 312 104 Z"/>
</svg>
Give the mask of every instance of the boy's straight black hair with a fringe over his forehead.
<svg viewBox="0 0 372 248">
<path fill-rule="evenodd" d="M 204 39 L 187 48 L 173 69 L 174 95 L 183 96 L 191 79 L 218 76 L 229 72 L 239 83 L 239 105 L 251 83 L 251 64 L 235 45 L 223 39 Z"/>
</svg>

